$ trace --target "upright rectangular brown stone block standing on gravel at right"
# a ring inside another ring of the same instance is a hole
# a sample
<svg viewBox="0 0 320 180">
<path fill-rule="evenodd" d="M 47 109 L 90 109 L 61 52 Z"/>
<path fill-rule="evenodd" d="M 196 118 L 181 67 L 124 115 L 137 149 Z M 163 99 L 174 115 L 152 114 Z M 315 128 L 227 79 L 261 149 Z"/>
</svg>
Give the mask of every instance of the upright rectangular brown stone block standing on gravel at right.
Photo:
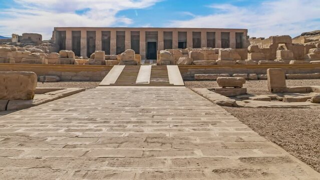
<svg viewBox="0 0 320 180">
<path fill-rule="evenodd" d="M 274 92 L 274 88 L 285 88 L 285 72 L 281 68 L 268 68 L 267 69 L 268 78 L 268 89 L 269 92 Z"/>
</svg>

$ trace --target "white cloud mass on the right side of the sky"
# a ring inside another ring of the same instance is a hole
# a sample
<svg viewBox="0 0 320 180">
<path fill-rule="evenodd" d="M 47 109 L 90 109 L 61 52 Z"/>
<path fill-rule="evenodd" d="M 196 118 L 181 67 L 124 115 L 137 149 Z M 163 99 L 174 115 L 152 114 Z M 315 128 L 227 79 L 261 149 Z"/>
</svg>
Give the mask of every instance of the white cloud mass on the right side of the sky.
<svg viewBox="0 0 320 180">
<path fill-rule="evenodd" d="M 214 13 L 189 20 L 172 20 L 168 26 L 248 28 L 256 37 L 289 34 L 320 29 L 319 0 L 271 0 L 258 6 L 211 4 Z"/>
</svg>

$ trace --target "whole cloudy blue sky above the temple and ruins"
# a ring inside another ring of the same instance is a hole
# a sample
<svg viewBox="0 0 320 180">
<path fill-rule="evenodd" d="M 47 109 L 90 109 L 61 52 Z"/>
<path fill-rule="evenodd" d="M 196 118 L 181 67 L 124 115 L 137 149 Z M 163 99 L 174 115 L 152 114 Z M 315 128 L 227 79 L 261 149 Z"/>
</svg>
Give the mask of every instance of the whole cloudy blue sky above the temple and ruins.
<svg viewBox="0 0 320 180">
<path fill-rule="evenodd" d="M 247 28 L 250 36 L 320 29 L 320 0 L 0 0 L 0 35 L 55 26 Z"/>
</svg>

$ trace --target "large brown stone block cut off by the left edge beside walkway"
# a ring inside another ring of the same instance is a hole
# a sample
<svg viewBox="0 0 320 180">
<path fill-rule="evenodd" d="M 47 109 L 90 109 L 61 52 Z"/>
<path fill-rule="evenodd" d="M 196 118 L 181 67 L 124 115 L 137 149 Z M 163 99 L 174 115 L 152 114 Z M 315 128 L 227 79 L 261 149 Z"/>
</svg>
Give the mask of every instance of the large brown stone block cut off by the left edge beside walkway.
<svg viewBox="0 0 320 180">
<path fill-rule="evenodd" d="M 33 99 L 37 87 L 35 72 L 0 72 L 0 99 L 28 100 Z"/>
</svg>

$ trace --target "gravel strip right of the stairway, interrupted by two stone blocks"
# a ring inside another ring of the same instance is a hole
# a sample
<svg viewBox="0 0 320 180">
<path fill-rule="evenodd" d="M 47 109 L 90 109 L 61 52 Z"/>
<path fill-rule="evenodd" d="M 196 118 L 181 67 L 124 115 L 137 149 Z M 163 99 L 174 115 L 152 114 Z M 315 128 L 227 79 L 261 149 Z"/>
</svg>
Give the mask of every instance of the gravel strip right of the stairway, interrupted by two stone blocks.
<svg viewBox="0 0 320 180">
<path fill-rule="evenodd" d="M 209 88 L 218 87 L 215 80 L 202 80 L 202 81 L 184 81 L 187 87 L 190 88 Z M 320 85 L 320 79 L 287 79 L 287 86 L 307 86 L 307 85 Z M 268 92 L 267 80 L 249 80 L 243 84 L 247 88 L 248 93 L 265 93 Z"/>
</svg>

